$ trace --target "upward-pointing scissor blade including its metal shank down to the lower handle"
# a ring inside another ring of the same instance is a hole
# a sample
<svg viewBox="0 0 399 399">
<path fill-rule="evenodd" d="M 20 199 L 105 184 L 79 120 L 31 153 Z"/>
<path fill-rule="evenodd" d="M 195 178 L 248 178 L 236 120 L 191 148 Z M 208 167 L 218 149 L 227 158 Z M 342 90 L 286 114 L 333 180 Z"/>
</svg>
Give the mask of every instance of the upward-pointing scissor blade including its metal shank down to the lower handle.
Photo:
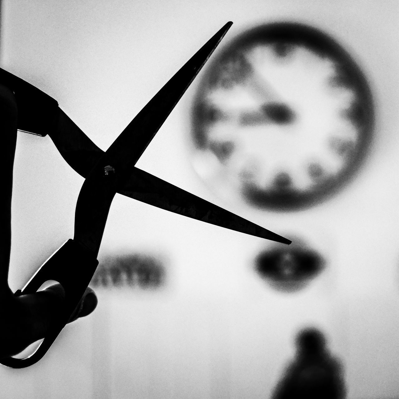
<svg viewBox="0 0 399 399">
<path fill-rule="evenodd" d="M 132 167 L 231 24 L 232 22 L 225 24 L 162 87 L 111 144 L 87 176 L 76 204 L 74 241 L 88 248 L 96 256 L 115 193 L 123 187 L 132 172 Z M 113 173 L 105 174 L 106 168 Z"/>
</svg>

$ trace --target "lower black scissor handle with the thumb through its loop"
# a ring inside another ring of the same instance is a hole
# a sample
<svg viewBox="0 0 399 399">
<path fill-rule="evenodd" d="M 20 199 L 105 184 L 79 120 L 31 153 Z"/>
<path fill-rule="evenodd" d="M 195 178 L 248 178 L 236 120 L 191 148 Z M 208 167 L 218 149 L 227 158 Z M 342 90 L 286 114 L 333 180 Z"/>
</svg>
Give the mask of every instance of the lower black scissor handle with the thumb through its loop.
<svg viewBox="0 0 399 399">
<path fill-rule="evenodd" d="M 48 280 L 59 282 L 65 290 L 65 309 L 54 321 L 50 331 L 44 337 L 36 351 L 24 359 L 0 359 L 0 363 L 7 367 L 23 368 L 39 361 L 53 344 L 58 334 L 67 324 L 69 318 L 79 304 L 94 272 L 98 261 L 95 256 L 79 243 L 69 239 L 66 241 L 26 283 L 16 295 L 33 294 Z"/>
</svg>

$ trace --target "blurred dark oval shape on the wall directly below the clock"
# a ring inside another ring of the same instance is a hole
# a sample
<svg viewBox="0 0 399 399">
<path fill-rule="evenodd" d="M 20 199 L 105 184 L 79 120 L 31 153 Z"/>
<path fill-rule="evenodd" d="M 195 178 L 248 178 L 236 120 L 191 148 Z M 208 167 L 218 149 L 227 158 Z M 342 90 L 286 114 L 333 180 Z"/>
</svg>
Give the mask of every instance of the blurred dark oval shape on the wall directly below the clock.
<svg viewBox="0 0 399 399">
<path fill-rule="evenodd" d="M 289 247 L 282 245 L 262 251 L 255 259 L 257 272 L 269 284 L 284 292 L 304 288 L 324 269 L 324 259 L 300 239 Z"/>
</svg>

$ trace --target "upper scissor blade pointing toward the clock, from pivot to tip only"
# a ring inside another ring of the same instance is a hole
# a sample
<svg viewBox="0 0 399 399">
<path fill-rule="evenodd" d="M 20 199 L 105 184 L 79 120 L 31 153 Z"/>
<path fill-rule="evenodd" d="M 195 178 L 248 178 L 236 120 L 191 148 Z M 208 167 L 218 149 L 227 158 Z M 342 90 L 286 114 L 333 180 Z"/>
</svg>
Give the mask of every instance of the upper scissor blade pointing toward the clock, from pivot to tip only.
<svg viewBox="0 0 399 399">
<path fill-rule="evenodd" d="M 233 22 L 228 22 L 191 57 L 126 126 L 107 150 L 117 171 L 134 166 Z"/>
</svg>

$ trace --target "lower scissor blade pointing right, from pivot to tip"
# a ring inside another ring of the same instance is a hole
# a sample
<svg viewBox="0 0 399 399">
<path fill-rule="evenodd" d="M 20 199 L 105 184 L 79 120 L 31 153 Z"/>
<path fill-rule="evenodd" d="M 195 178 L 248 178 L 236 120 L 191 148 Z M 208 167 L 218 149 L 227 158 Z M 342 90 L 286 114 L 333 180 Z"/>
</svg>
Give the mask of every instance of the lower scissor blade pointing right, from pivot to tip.
<svg viewBox="0 0 399 399">
<path fill-rule="evenodd" d="M 133 183 L 130 188 L 128 182 Z M 120 194 L 192 219 L 279 243 L 291 243 L 290 240 L 272 231 L 144 172 L 144 170 L 134 168 L 128 182 L 124 189 L 119 191 Z"/>
</svg>

